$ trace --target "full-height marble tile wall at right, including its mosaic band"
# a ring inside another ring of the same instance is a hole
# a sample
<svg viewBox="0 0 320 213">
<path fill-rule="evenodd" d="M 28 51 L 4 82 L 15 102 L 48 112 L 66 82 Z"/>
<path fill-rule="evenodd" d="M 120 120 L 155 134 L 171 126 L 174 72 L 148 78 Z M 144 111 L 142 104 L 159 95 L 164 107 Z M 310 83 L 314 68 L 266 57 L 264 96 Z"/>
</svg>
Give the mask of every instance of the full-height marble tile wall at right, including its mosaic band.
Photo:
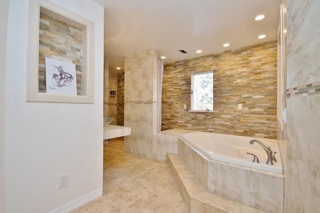
<svg viewBox="0 0 320 213">
<path fill-rule="evenodd" d="M 284 1 L 284 0 L 282 0 Z M 320 1 L 286 0 L 284 212 L 320 212 Z"/>
</svg>

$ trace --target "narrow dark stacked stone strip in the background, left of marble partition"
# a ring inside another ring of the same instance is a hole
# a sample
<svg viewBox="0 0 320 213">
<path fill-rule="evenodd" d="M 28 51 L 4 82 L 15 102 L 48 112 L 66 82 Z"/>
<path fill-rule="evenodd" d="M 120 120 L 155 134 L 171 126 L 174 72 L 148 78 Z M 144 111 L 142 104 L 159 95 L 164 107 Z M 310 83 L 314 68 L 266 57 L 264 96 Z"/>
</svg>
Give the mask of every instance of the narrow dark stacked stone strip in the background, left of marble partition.
<svg viewBox="0 0 320 213">
<path fill-rule="evenodd" d="M 117 125 L 123 126 L 124 122 L 124 73 L 118 74 L 117 82 Z"/>
</svg>

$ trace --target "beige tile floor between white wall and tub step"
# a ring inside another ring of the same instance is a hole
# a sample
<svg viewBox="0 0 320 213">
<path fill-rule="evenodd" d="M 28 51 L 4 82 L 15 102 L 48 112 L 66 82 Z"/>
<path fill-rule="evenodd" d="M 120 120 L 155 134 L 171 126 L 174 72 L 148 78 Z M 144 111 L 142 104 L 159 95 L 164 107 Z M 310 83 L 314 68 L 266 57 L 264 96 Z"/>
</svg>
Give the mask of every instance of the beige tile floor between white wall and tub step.
<svg viewBox="0 0 320 213">
<path fill-rule="evenodd" d="M 187 213 L 164 162 L 123 152 L 123 138 L 103 147 L 103 195 L 72 213 Z"/>
</svg>

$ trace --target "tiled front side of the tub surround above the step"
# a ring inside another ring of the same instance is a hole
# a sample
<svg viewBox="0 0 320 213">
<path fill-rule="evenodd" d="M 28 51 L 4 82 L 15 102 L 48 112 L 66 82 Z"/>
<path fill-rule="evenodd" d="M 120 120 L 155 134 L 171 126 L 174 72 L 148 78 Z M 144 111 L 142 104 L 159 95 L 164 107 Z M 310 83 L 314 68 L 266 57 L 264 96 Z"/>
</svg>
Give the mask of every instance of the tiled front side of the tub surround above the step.
<svg viewBox="0 0 320 213">
<path fill-rule="evenodd" d="M 209 159 L 178 137 L 178 156 L 207 192 L 265 212 L 283 212 L 283 175 Z"/>
</svg>

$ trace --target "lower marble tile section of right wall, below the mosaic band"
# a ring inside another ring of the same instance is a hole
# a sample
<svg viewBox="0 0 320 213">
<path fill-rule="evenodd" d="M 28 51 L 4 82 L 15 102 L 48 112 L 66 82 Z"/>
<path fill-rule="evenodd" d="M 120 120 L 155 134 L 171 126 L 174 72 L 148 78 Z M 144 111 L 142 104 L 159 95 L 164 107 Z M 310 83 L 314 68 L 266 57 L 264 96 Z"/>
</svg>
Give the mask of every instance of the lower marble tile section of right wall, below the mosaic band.
<svg viewBox="0 0 320 213">
<path fill-rule="evenodd" d="M 318 212 L 320 96 L 287 99 L 287 212 Z M 317 181 L 315 181 L 317 180 Z"/>
</svg>

